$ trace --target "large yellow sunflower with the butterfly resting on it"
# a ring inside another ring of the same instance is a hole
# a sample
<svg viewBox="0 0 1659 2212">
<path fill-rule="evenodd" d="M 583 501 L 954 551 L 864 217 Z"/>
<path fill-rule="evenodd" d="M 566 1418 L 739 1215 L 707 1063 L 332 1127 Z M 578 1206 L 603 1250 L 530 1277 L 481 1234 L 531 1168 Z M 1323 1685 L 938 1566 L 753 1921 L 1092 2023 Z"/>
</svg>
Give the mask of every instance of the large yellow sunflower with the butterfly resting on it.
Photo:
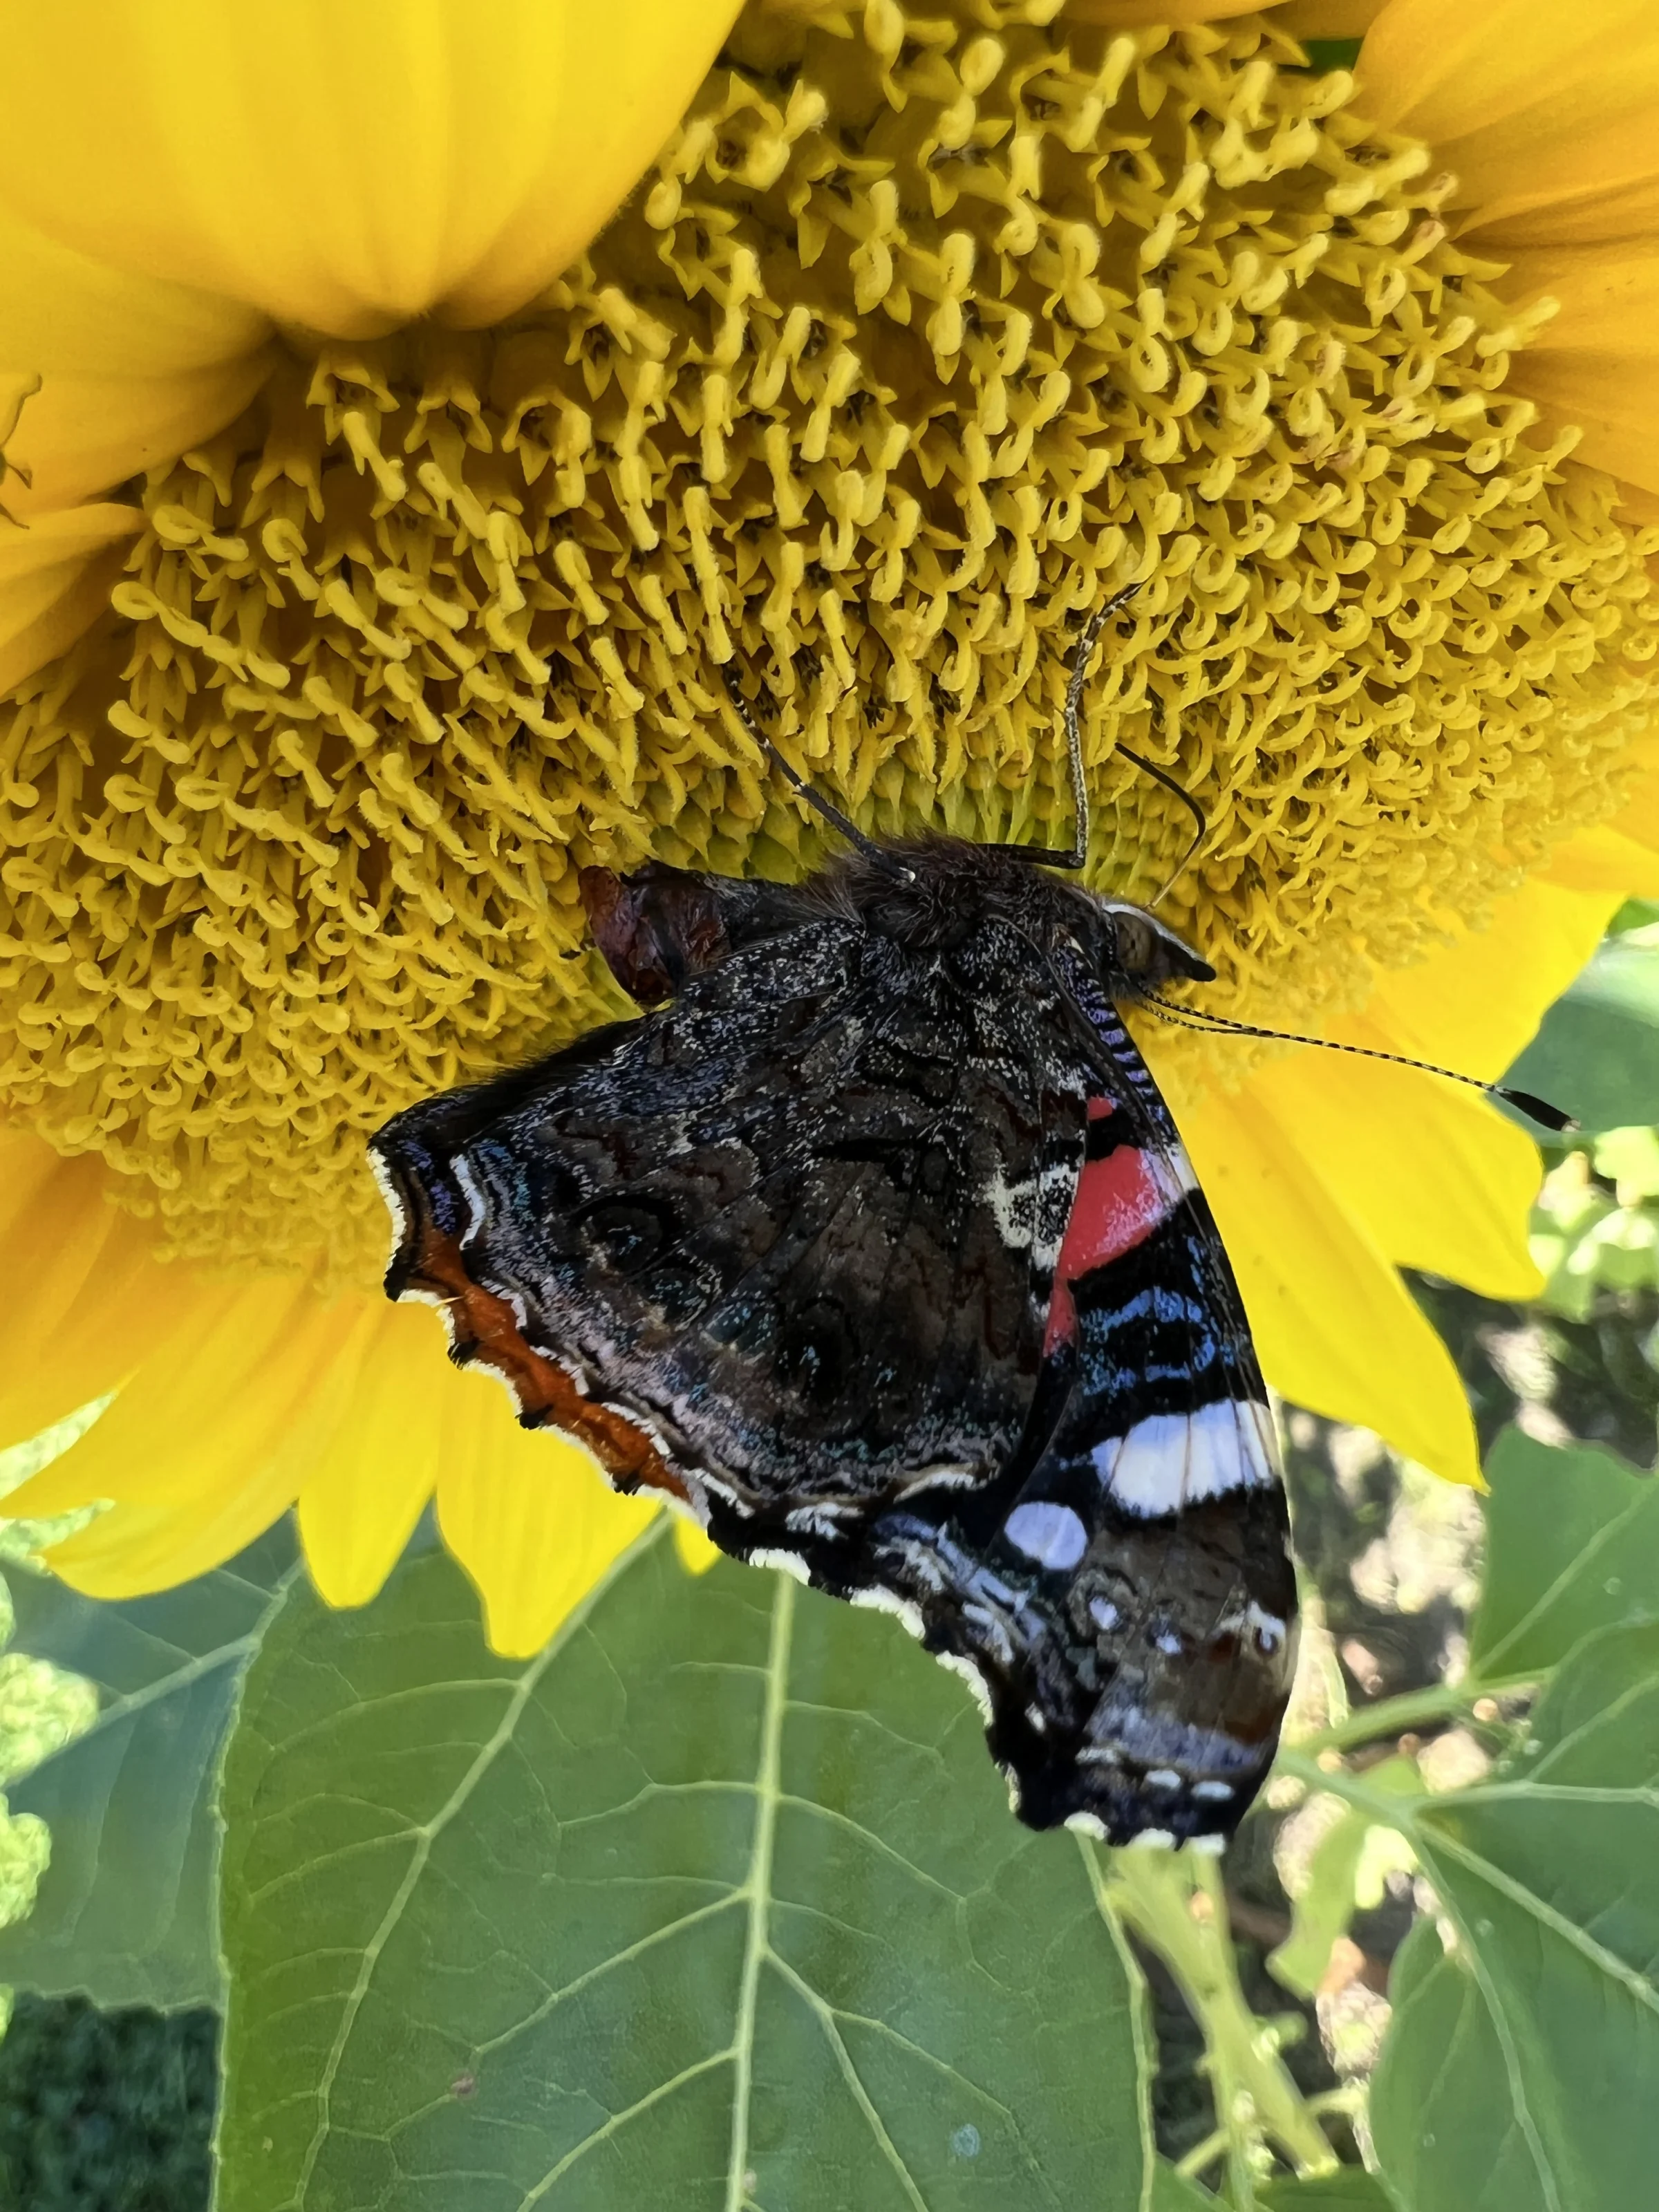
<svg viewBox="0 0 1659 2212">
<path fill-rule="evenodd" d="M 1137 582 L 1091 880 L 1175 872 L 1241 1020 L 1495 1075 L 1659 894 L 1637 7 L 732 18 L 7 24 L 0 1387 L 11 1436 L 115 1394 L 11 1502 L 108 1500 L 77 1588 L 296 1504 L 358 1604 L 436 1495 L 524 1652 L 630 1542 L 380 1298 L 365 1137 L 622 1011 L 582 865 L 821 856 L 732 659 L 867 827 L 1042 838 L 1068 626 Z M 1146 1048 L 1270 1380 L 1478 1480 L 1398 1270 L 1526 1296 L 1533 1146 L 1431 1077 Z"/>
</svg>

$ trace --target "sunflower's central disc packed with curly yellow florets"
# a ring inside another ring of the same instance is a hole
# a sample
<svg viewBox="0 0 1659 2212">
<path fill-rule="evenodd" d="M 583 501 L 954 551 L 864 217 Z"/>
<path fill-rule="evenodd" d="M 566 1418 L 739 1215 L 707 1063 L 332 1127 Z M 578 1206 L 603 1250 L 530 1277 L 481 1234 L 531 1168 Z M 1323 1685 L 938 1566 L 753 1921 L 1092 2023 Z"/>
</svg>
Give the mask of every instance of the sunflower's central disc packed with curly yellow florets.
<svg viewBox="0 0 1659 2212">
<path fill-rule="evenodd" d="M 1261 20 L 741 20 L 487 332 L 290 332 L 0 701 L 0 1099 L 166 1248 L 367 1279 L 365 1135 L 622 1006 L 575 872 L 1068 843 L 1305 1026 L 1608 816 L 1655 714 L 1617 487 L 1506 392 L 1451 179 Z M 1121 748 L 1201 805 L 1208 834 Z M 1181 1035 L 1186 1077 L 1239 1040 Z"/>
</svg>

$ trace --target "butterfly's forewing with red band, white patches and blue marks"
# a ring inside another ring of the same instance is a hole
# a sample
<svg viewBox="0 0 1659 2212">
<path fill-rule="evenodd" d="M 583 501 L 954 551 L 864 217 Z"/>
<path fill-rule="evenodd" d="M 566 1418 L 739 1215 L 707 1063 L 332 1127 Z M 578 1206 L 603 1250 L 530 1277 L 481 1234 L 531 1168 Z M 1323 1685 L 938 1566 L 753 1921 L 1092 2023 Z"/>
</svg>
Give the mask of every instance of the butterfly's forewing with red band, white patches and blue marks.
<svg viewBox="0 0 1659 2212">
<path fill-rule="evenodd" d="M 891 1593 L 978 1683 L 1033 1827 L 1230 1834 L 1272 1765 L 1296 1577 L 1232 1267 L 1110 998 L 1066 973 L 1088 1144 L 1026 1433 L 973 1493 L 874 1517 L 818 1579 Z M 836 1579 L 841 1571 L 841 1579 Z"/>
</svg>

